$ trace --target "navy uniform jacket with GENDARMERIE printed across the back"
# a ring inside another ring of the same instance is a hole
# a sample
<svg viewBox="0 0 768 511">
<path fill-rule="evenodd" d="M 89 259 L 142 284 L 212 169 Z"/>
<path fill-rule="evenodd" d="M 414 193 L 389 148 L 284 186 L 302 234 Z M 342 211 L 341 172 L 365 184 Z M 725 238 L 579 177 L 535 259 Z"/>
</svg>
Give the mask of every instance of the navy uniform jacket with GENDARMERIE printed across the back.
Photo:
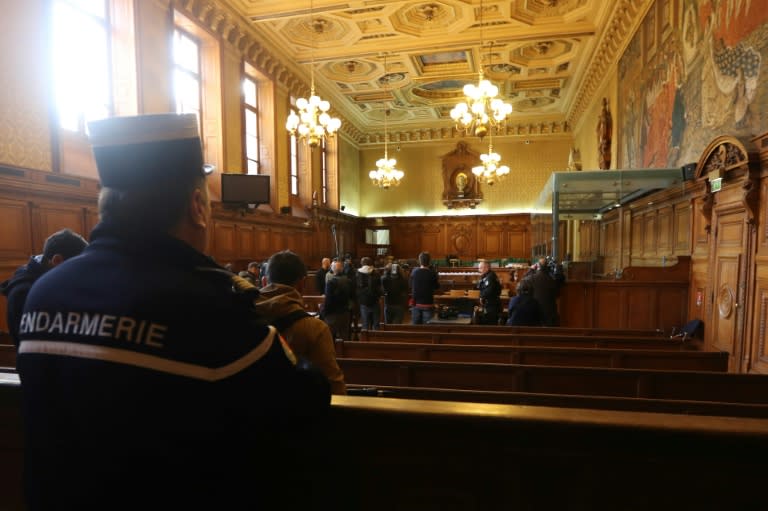
<svg viewBox="0 0 768 511">
<path fill-rule="evenodd" d="M 30 510 L 258 509 L 330 403 L 231 275 L 169 236 L 99 224 L 24 311 Z"/>
</svg>

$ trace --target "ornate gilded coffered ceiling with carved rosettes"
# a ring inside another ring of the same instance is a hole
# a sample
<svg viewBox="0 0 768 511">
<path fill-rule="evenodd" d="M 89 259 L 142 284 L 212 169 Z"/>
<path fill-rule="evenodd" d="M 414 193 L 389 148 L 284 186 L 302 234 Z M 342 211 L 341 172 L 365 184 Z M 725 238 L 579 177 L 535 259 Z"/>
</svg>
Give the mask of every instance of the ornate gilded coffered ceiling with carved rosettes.
<svg viewBox="0 0 768 511">
<path fill-rule="evenodd" d="M 506 135 L 568 131 L 648 0 L 218 3 L 307 81 L 314 65 L 320 95 L 364 144 L 379 141 L 386 110 L 400 140 L 423 139 L 415 130 L 444 137 L 481 68 L 513 105 Z"/>
</svg>

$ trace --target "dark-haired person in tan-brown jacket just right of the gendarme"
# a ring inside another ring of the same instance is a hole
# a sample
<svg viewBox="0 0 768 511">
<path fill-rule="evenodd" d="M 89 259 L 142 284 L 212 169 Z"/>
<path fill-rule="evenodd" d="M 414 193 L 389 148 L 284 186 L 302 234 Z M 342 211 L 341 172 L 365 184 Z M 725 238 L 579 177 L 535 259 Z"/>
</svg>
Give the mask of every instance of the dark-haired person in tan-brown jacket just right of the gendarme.
<svg viewBox="0 0 768 511">
<path fill-rule="evenodd" d="M 278 329 L 297 357 L 325 374 L 334 394 L 346 394 L 331 330 L 304 310 L 306 276 L 306 266 L 298 255 L 290 250 L 273 254 L 267 262 L 266 282 L 255 300 L 256 311 Z"/>
</svg>

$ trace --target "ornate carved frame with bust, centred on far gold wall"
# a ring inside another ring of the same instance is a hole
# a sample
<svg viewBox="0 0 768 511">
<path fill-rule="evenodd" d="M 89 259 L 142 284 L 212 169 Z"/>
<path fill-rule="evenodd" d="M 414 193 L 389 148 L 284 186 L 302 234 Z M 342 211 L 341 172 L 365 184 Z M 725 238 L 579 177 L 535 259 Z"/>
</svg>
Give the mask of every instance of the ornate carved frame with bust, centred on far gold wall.
<svg viewBox="0 0 768 511">
<path fill-rule="evenodd" d="M 470 208 L 483 201 L 480 183 L 472 167 L 480 164 L 480 154 L 472 151 L 466 142 L 456 143 L 456 149 L 442 157 L 443 204 L 448 209 Z"/>
</svg>

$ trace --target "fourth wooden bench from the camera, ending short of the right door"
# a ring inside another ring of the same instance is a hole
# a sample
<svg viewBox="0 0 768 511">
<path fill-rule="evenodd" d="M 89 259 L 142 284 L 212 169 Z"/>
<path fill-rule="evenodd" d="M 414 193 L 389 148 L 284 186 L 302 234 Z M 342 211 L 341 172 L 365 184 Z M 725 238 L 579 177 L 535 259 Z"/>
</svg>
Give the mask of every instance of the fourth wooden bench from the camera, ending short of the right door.
<svg viewBox="0 0 768 511">
<path fill-rule="evenodd" d="M 418 344 L 482 344 L 487 346 L 552 346 L 572 348 L 698 350 L 701 344 L 667 337 L 621 337 L 580 335 L 527 335 L 512 333 L 431 332 L 407 330 L 363 330 L 362 342 Z"/>
</svg>

